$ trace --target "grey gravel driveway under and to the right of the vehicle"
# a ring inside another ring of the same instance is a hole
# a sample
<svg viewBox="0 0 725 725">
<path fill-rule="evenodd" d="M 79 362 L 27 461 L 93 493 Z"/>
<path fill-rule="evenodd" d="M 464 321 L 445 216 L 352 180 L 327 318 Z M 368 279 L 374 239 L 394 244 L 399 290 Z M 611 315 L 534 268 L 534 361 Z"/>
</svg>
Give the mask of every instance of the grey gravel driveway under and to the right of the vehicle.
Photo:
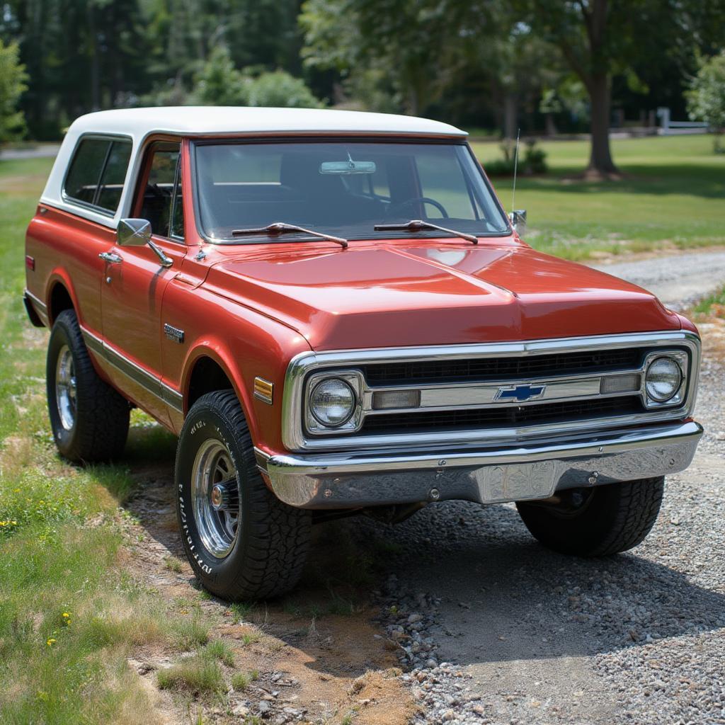
<svg viewBox="0 0 725 725">
<path fill-rule="evenodd" d="M 601 266 L 680 309 L 725 279 L 725 253 Z M 705 360 L 708 432 L 634 552 L 550 552 L 513 505 L 368 524 L 399 552 L 382 624 L 412 667 L 418 723 L 725 724 L 724 386 Z"/>
</svg>

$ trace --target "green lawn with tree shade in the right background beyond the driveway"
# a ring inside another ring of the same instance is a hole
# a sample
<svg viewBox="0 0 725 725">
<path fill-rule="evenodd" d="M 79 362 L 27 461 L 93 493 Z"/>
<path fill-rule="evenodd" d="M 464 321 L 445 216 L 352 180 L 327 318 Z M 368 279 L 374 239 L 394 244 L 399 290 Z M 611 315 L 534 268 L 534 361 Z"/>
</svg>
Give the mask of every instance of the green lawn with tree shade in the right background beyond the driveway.
<svg viewBox="0 0 725 725">
<path fill-rule="evenodd" d="M 519 177 L 515 204 L 529 215 L 526 241 L 552 254 L 586 259 L 592 252 L 641 252 L 725 244 L 725 156 L 711 136 L 612 141 L 621 181 L 581 181 L 587 141 L 548 141 L 551 173 Z M 475 143 L 484 163 L 502 157 L 499 144 Z M 494 178 L 507 210 L 512 179 Z"/>
</svg>

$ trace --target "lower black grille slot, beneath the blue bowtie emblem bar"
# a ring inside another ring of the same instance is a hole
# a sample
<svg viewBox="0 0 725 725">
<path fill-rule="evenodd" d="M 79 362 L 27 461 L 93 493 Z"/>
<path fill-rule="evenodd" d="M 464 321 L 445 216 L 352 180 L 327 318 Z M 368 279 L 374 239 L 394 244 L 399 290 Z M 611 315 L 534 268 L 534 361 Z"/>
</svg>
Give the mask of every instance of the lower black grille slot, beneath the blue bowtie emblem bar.
<svg viewBox="0 0 725 725">
<path fill-rule="evenodd" d="M 540 403 L 475 410 L 431 410 L 421 413 L 369 415 L 362 434 L 410 433 L 415 431 L 486 430 L 561 423 L 583 418 L 644 413 L 638 396 L 598 398 L 572 402 Z"/>
</svg>

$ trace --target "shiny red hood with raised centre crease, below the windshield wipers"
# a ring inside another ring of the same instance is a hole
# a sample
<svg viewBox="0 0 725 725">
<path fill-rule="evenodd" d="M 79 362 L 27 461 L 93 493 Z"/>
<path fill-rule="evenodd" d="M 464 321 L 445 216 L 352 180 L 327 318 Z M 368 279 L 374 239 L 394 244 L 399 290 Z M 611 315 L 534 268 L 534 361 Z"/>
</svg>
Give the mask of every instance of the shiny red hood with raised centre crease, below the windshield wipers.
<svg viewBox="0 0 725 725">
<path fill-rule="evenodd" d="M 206 284 L 294 328 L 316 350 L 680 326 L 637 286 L 510 242 L 274 244 L 217 262 Z"/>
</svg>

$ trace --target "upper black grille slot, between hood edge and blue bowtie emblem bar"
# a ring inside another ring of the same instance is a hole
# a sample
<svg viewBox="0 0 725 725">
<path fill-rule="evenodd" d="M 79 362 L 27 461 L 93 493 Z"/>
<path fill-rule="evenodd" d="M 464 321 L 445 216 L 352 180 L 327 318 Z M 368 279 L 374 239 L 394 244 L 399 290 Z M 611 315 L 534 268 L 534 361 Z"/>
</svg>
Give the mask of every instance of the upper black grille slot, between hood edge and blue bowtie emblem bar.
<svg viewBox="0 0 725 725">
<path fill-rule="evenodd" d="M 508 381 L 639 368 L 644 349 L 562 352 L 526 357 L 483 357 L 464 360 L 413 360 L 406 363 L 360 365 L 370 386 L 415 383 Z"/>
</svg>

